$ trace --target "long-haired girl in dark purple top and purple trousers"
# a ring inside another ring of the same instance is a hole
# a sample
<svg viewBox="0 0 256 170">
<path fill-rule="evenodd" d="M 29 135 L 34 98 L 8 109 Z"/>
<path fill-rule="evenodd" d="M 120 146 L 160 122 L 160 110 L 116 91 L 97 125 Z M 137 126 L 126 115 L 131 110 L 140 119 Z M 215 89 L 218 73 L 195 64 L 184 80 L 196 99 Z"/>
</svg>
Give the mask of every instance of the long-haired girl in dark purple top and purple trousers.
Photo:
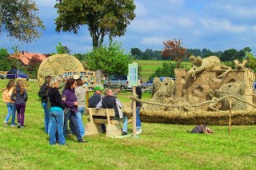
<svg viewBox="0 0 256 170">
<path fill-rule="evenodd" d="M 24 113 L 28 96 L 22 80 L 18 80 L 17 86 L 14 87 L 14 91 L 10 98 L 15 102 L 15 107 L 17 109 L 18 128 L 24 128 Z"/>
</svg>

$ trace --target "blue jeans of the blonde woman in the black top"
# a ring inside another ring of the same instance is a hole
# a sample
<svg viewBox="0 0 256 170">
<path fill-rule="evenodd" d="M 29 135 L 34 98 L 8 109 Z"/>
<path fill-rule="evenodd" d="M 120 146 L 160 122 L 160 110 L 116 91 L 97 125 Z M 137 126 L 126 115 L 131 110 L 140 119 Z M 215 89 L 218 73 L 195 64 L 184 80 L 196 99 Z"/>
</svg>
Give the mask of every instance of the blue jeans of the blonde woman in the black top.
<svg viewBox="0 0 256 170">
<path fill-rule="evenodd" d="M 56 143 L 56 131 L 58 132 L 59 144 L 66 144 L 65 137 L 63 135 L 64 125 L 64 112 L 63 110 L 50 112 L 50 144 Z"/>
</svg>

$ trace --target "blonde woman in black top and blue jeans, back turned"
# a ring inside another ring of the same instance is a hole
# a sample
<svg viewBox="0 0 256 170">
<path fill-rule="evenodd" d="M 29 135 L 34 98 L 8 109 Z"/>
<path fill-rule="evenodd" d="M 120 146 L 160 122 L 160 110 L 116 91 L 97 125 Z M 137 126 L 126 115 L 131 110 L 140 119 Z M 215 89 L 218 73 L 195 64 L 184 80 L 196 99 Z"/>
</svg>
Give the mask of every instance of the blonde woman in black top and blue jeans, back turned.
<svg viewBox="0 0 256 170">
<path fill-rule="evenodd" d="M 64 124 L 64 109 L 65 105 L 62 104 L 62 96 L 58 92 L 59 82 L 57 79 L 52 78 L 50 80 L 50 90 L 48 97 L 50 100 L 50 144 L 56 143 L 56 131 L 58 132 L 59 144 L 66 144 L 65 137 L 63 135 Z"/>
</svg>

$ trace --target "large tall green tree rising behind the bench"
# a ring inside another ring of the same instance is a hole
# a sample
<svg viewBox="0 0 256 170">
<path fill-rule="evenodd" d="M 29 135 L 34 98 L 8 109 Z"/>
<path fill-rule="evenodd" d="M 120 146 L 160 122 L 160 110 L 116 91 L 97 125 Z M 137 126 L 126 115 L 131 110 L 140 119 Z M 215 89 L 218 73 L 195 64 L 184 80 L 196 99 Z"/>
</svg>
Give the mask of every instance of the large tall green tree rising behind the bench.
<svg viewBox="0 0 256 170">
<path fill-rule="evenodd" d="M 62 0 L 55 6 L 58 18 L 56 31 L 73 31 L 78 34 L 80 26 L 87 25 L 94 49 L 98 49 L 108 35 L 110 40 L 122 36 L 135 18 L 133 0 Z"/>
</svg>

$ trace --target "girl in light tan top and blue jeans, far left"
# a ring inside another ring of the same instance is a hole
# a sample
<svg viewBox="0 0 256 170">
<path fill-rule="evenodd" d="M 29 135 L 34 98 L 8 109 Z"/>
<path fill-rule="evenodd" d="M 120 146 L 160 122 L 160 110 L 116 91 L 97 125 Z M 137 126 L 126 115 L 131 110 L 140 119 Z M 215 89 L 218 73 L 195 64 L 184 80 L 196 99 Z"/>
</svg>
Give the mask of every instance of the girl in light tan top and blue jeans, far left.
<svg viewBox="0 0 256 170">
<path fill-rule="evenodd" d="M 10 80 L 8 82 L 8 84 L 6 85 L 6 89 L 5 91 L 2 93 L 2 101 L 4 101 L 7 105 L 7 110 L 8 113 L 6 115 L 6 119 L 3 122 L 4 126 L 7 126 L 7 122 L 9 121 L 10 115 L 11 115 L 11 123 L 10 126 L 14 127 L 15 126 L 15 113 L 16 113 L 16 108 L 15 108 L 15 104 L 14 101 L 11 101 L 10 99 L 10 95 L 14 90 L 14 86 L 15 86 L 15 81 L 14 80 Z"/>
</svg>

